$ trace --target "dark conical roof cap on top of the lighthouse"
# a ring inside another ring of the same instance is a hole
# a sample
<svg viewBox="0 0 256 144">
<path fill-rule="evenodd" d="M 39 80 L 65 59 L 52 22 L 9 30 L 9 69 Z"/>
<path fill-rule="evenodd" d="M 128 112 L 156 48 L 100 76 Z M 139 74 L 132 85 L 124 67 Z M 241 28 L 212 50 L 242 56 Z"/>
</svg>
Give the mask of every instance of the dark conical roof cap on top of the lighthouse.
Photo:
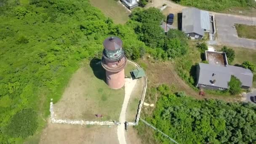
<svg viewBox="0 0 256 144">
<path fill-rule="evenodd" d="M 123 42 L 119 37 L 108 37 L 103 42 L 104 48 L 115 51 L 122 48 Z"/>
</svg>

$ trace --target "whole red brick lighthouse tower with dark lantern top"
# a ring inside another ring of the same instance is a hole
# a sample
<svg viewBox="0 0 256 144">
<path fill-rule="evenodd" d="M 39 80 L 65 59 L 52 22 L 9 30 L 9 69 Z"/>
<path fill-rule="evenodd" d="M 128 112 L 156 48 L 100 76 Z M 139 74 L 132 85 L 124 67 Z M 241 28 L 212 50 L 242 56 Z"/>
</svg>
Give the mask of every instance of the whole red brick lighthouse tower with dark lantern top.
<svg viewBox="0 0 256 144">
<path fill-rule="evenodd" d="M 126 57 L 123 42 L 118 37 L 108 37 L 104 40 L 104 50 L 101 65 L 106 69 L 107 84 L 112 89 L 122 88 L 125 84 Z"/>
</svg>

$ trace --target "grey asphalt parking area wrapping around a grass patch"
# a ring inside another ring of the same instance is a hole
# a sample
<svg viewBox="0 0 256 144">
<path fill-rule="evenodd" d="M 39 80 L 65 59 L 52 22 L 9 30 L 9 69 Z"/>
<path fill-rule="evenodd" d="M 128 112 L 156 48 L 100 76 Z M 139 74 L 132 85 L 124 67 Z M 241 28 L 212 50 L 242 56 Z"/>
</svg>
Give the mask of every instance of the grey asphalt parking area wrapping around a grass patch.
<svg viewBox="0 0 256 144">
<path fill-rule="evenodd" d="M 216 14 L 215 20 L 218 44 L 256 50 L 256 40 L 238 37 L 235 29 L 235 24 L 256 25 L 256 18 Z"/>
</svg>

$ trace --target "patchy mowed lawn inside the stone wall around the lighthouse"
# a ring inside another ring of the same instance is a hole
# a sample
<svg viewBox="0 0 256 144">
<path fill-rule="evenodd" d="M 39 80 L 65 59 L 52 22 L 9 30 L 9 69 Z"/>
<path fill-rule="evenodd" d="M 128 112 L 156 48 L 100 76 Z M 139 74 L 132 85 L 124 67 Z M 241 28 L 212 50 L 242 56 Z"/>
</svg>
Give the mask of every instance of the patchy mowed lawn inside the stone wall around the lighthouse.
<svg viewBox="0 0 256 144">
<path fill-rule="evenodd" d="M 105 70 L 98 62 L 99 59 L 85 61 L 69 80 L 61 99 L 54 104 L 56 119 L 119 120 L 125 88 L 109 88 L 105 82 Z M 125 76 L 129 76 L 129 72 L 134 68 L 134 65 L 128 62 Z M 138 101 L 134 102 L 136 104 L 132 105 L 138 105 Z M 96 114 L 103 115 L 103 118 L 97 119 Z"/>
</svg>

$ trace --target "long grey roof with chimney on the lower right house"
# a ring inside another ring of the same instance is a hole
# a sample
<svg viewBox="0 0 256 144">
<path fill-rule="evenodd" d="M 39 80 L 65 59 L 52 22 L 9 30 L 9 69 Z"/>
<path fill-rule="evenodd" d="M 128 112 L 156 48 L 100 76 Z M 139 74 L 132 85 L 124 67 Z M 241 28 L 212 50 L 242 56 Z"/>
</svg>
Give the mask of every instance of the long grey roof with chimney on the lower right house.
<svg viewBox="0 0 256 144">
<path fill-rule="evenodd" d="M 231 65 L 223 67 L 215 64 L 204 63 L 199 63 L 199 67 L 200 73 L 198 83 L 200 84 L 228 88 L 228 82 L 230 81 L 231 75 L 234 75 L 242 82 L 243 86 L 252 86 L 253 73 L 250 69 Z M 213 80 L 216 80 L 214 84 L 211 83 Z"/>
</svg>

